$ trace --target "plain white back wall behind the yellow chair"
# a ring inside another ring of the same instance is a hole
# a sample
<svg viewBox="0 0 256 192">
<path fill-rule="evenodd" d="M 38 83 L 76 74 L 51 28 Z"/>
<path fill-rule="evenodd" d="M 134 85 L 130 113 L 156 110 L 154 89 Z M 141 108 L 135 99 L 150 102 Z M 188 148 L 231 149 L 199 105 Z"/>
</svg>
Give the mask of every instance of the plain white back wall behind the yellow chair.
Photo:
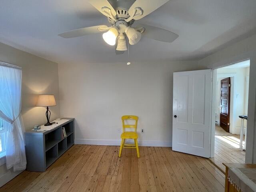
<svg viewBox="0 0 256 192">
<path fill-rule="evenodd" d="M 120 144 L 122 115 L 137 115 L 140 145 L 171 146 L 173 72 L 197 62 L 59 65 L 60 114 L 76 119 L 76 143 Z"/>
</svg>

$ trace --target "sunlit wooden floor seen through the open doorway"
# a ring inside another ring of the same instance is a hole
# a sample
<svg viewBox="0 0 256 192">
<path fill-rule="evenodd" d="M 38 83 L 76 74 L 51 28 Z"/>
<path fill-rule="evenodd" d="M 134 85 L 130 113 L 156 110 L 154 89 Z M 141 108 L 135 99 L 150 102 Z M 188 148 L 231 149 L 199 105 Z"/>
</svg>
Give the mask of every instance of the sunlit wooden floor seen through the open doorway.
<svg viewBox="0 0 256 192">
<path fill-rule="evenodd" d="M 239 150 L 239 143 L 240 135 L 215 135 L 214 158 L 210 160 L 223 172 L 225 166 L 222 163 L 245 163 L 245 151 Z"/>
</svg>

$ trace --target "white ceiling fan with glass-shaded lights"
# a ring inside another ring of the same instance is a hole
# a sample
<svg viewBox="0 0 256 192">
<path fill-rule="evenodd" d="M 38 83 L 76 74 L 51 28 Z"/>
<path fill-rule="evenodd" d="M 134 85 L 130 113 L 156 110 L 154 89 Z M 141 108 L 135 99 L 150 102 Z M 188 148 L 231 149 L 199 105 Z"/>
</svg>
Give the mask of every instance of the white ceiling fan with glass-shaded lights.
<svg viewBox="0 0 256 192">
<path fill-rule="evenodd" d="M 134 20 L 139 20 L 150 14 L 169 0 L 87 0 L 98 11 L 108 18 L 112 26 L 98 25 L 84 27 L 60 33 L 58 36 L 73 38 L 88 34 L 104 32 L 102 37 L 109 45 L 116 45 L 116 54 L 127 50 L 126 38 L 134 45 L 143 36 L 162 42 L 173 42 L 178 35 L 168 30 L 140 24 L 132 27 Z"/>
</svg>

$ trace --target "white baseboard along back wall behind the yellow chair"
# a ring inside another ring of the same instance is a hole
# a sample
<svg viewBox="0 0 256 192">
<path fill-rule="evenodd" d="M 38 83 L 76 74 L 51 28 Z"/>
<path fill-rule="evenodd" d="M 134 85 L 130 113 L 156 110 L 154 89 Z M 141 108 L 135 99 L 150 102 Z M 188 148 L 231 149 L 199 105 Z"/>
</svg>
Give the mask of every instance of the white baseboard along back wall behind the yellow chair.
<svg viewBox="0 0 256 192">
<path fill-rule="evenodd" d="M 84 145 L 112 145 L 120 146 L 121 140 L 96 140 L 96 139 L 75 139 L 75 144 Z M 171 141 L 140 141 L 138 140 L 139 146 L 147 147 L 171 147 Z"/>
</svg>

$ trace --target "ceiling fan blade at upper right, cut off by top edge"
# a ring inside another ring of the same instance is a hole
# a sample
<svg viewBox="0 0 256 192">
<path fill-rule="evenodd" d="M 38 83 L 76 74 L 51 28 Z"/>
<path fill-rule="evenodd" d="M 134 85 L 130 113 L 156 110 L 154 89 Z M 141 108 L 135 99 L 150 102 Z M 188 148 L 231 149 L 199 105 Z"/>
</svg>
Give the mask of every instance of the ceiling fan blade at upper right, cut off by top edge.
<svg viewBox="0 0 256 192">
<path fill-rule="evenodd" d="M 139 20 L 144 16 L 150 14 L 154 10 L 158 9 L 160 6 L 168 2 L 169 0 L 136 0 L 134 4 L 128 10 L 129 15 L 134 13 L 134 9 L 136 7 L 140 7 L 143 10 L 143 14 L 141 16 L 136 16 L 134 19 Z"/>
</svg>

